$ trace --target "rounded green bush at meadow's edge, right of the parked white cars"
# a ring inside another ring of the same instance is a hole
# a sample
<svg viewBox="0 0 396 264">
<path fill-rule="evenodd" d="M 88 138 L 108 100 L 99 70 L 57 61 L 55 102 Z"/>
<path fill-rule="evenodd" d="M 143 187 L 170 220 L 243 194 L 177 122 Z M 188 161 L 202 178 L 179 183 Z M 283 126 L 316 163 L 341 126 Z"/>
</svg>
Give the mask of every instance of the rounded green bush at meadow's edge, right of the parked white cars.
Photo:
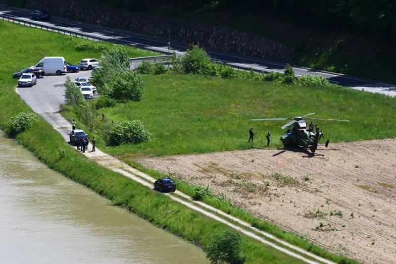
<svg viewBox="0 0 396 264">
<path fill-rule="evenodd" d="M 109 86 L 109 96 L 118 101 L 140 101 L 145 95 L 142 77 L 134 71 L 118 72 Z"/>
</svg>

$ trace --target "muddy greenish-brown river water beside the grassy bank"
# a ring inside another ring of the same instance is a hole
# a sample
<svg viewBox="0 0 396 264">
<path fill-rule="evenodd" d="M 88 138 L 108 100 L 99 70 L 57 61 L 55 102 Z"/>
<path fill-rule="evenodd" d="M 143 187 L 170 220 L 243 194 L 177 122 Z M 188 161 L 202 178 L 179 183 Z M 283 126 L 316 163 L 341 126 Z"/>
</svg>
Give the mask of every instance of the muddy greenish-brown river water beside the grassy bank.
<svg viewBox="0 0 396 264">
<path fill-rule="evenodd" d="M 0 262 L 204 264 L 198 247 L 50 170 L 0 134 Z"/>
</svg>

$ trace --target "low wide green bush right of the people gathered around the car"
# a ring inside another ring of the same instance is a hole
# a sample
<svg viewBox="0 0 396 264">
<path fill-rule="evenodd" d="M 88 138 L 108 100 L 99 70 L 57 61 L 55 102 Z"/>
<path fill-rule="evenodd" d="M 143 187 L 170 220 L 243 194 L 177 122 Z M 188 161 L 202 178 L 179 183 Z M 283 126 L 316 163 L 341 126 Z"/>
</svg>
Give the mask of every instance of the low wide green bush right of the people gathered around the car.
<svg viewBox="0 0 396 264">
<path fill-rule="evenodd" d="M 150 134 L 144 129 L 142 122 L 115 121 L 108 132 L 106 142 L 110 146 L 122 144 L 139 144 L 150 140 Z"/>
</svg>

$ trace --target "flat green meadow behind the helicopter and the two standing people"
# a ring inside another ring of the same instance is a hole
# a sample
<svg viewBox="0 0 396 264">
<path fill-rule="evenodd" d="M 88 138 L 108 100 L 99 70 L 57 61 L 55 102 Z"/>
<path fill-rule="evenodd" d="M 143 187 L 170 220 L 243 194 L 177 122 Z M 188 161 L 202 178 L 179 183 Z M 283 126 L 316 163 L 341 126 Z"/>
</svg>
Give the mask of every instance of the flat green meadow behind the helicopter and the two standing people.
<svg viewBox="0 0 396 264">
<path fill-rule="evenodd" d="M 388 96 L 337 86 L 284 86 L 194 75 L 145 75 L 143 79 L 146 96 L 141 102 L 99 111 L 108 120 L 142 121 L 153 140 L 106 148 L 112 155 L 133 158 L 262 148 L 267 131 L 272 134 L 270 147 L 281 147 L 279 137 L 285 130 L 280 127 L 288 121 L 249 119 L 311 112 L 316 112 L 311 117 L 350 120 L 317 122 L 330 144 L 396 136 L 396 116 L 390 114 L 396 100 Z M 64 114 L 74 118 L 71 112 Z M 247 143 L 250 127 L 255 131 L 253 144 Z M 103 140 L 99 142 L 99 148 L 103 148 Z"/>
</svg>

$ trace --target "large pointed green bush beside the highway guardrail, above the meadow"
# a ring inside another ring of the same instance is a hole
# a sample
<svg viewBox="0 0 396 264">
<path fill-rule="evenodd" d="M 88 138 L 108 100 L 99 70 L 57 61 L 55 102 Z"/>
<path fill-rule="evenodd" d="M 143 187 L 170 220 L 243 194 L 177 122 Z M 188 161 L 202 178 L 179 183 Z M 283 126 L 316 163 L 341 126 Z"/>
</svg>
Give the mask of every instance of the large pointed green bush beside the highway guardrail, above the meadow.
<svg viewBox="0 0 396 264">
<path fill-rule="evenodd" d="M 190 74 L 207 74 L 209 64 L 212 63 L 207 53 L 197 44 L 192 45 L 181 60 L 184 72 Z"/>
</svg>

